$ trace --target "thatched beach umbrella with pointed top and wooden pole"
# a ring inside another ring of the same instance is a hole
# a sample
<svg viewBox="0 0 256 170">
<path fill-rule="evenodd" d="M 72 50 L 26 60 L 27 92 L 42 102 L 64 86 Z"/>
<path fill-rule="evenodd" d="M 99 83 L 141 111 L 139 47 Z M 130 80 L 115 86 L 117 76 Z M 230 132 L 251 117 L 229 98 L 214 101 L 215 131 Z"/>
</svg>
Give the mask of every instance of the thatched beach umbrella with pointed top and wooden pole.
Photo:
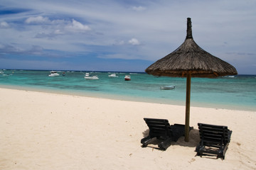
<svg viewBox="0 0 256 170">
<path fill-rule="evenodd" d="M 192 37 L 191 18 L 187 18 L 187 35 L 183 44 L 161 60 L 151 64 L 145 72 L 154 76 L 187 77 L 185 141 L 189 135 L 191 77 L 220 77 L 236 75 L 235 67 L 199 47 Z"/>
</svg>

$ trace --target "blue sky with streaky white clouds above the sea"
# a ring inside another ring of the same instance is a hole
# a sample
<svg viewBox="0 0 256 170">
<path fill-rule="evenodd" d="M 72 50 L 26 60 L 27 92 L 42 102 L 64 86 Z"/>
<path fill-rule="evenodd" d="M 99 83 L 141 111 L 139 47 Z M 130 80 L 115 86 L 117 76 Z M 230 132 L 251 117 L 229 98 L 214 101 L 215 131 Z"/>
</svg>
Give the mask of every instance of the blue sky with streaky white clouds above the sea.
<svg viewBox="0 0 256 170">
<path fill-rule="evenodd" d="M 255 0 L 1 0 L 0 68 L 144 72 L 186 38 L 256 74 Z"/>
</svg>

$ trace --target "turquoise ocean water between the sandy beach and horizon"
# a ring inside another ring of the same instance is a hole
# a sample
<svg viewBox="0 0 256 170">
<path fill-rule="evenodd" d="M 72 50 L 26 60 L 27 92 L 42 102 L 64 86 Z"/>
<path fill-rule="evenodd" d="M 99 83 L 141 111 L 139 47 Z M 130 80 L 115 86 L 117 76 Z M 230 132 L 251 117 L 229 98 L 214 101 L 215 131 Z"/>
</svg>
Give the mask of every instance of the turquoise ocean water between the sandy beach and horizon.
<svg viewBox="0 0 256 170">
<path fill-rule="evenodd" d="M 127 101 L 186 104 L 186 78 L 124 72 L 116 72 L 119 77 L 110 78 L 108 75 L 112 72 L 93 72 L 99 79 L 85 80 L 85 72 L 65 71 L 65 76 L 62 76 L 63 71 L 58 73 L 58 77 L 48 77 L 49 71 L 0 70 L 0 86 Z M 124 81 L 127 74 L 132 81 Z M 161 90 L 162 85 L 176 88 Z M 192 78 L 191 106 L 256 111 L 256 75 Z"/>
</svg>

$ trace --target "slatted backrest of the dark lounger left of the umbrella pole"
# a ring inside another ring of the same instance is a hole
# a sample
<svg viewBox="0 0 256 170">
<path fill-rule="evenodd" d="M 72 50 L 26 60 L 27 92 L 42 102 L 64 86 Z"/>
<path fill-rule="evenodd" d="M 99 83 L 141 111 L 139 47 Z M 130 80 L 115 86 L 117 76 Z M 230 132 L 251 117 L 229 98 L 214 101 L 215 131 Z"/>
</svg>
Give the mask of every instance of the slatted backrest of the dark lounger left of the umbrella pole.
<svg viewBox="0 0 256 170">
<path fill-rule="evenodd" d="M 170 124 L 166 119 L 144 118 L 149 127 L 149 135 L 156 137 L 171 136 Z"/>
</svg>

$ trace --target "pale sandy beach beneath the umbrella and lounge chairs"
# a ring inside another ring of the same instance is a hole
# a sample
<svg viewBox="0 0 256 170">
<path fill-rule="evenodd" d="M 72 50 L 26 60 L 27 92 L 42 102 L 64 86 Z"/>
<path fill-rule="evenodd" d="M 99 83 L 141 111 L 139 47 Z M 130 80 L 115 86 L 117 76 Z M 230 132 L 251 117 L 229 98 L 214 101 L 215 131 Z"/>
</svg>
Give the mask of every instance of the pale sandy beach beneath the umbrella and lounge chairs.
<svg viewBox="0 0 256 170">
<path fill-rule="evenodd" d="M 256 112 L 191 107 L 190 142 L 140 140 L 143 118 L 184 124 L 185 107 L 0 89 L 0 169 L 256 169 Z M 233 130 L 225 160 L 195 157 L 197 123 Z"/>
</svg>

